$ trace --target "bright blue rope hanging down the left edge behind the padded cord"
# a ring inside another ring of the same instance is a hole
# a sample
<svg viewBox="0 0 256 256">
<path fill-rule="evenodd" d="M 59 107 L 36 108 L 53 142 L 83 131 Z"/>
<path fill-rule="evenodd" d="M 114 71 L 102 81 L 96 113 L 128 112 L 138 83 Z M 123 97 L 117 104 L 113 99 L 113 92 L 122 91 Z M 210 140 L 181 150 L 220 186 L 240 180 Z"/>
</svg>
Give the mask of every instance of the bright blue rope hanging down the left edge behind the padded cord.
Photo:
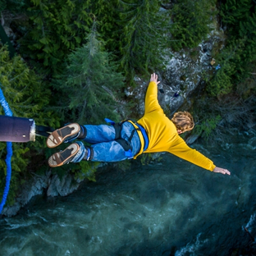
<svg viewBox="0 0 256 256">
<path fill-rule="evenodd" d="M 0 83 L 0 85 L 1 85 L 1 83 Z M 4 98 L 4 96 L 2 94 L 2 89 L 1 88 L 0 88 L 0 103 L 3 107 L 5 115 L 11 117 L 12 116 L 11 109 L 10 109 L 6 99 Z M 5 185 L 5 188 L 3 190 L 3 194 L 2 194 L 2 202 L 0 203 L 0 214 L 2 213 L 2 208 L 3 208 L 4 204 L 7 202 L 7 195 L 8 195 L 9 188 L 10 188 L 10 183 L 11 183 L 11 156 L 12 156 L 11 142 L 7 142 L 7 158 L 6 158 L 7 177 L 6 177 L 6 185 Z"/>
</svg>

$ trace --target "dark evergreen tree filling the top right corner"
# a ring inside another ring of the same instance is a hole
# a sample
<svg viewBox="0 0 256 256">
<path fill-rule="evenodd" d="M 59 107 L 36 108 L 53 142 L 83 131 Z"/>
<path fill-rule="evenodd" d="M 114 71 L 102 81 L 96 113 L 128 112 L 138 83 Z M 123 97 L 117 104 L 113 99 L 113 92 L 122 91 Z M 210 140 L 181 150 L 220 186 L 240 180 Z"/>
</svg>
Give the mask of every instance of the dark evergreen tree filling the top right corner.
<svg viewBox="0 0 256 256">
<path fill-rule="evenodd" d="M 256 6 L 253 0 L 226 0 L 222 4 L 221 16 L 227 26 L 227 48 L 240 45 L 237 53 L 233 83 L 239 83 L 248 77 L 256 61 Z M 239 43 L 237 43 L 239 42 Z"/>
</svg>

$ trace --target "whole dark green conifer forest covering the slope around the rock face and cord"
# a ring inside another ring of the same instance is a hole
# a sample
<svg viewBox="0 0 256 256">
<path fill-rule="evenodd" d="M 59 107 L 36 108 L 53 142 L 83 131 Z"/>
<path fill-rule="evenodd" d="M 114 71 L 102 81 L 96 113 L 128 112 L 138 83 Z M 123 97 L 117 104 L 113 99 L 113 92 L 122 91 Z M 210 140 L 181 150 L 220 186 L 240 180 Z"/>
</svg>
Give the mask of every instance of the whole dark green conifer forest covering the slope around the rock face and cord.
<svg viewBox="0 0 256 256">
<path fill-rule="evenodd" d="M 0 41 L 0 83 L 15 117 L 54 128 L 123 120 L 133 112 L 124 91 L 137 86 L 135 76 L 147 80 L 163 71 L 167 52 L 195 51 L 217 22 L 225 46 L 212 55 L 222 68 L 203 75 L 187 109 L 196 117 L 193 132 L 211 139 L 255 126 L 255 0 L 0 0 L 0 15 L 8 34 Z M 5 143 L 0 153 L 2 197 Z M 41 137 L 13 144 L 7 204 L 15 203 L 21 184 L 49 168 L 52 153 Z M 53 173 L 94 180 L 97 166 L 84 161 Z"/>
</svg>

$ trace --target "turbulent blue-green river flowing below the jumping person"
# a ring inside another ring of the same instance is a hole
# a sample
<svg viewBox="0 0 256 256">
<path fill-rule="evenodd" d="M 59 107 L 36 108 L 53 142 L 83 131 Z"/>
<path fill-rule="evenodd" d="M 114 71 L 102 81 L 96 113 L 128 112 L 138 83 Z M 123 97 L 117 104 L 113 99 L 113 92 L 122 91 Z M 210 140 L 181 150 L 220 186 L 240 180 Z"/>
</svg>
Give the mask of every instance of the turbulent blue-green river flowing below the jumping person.
<svg viewBox="0 0 256 256">
<path fill-rule="evenodd" d="M 148 165 L 132 161 L 126 171 L 103 167 L 75 193 L 35 197 L 16 217 L 0 219 L 0 255 L 255 253 L 256 135 L 192 147 L 231 176 L 169 153 Z"/>
</svg>

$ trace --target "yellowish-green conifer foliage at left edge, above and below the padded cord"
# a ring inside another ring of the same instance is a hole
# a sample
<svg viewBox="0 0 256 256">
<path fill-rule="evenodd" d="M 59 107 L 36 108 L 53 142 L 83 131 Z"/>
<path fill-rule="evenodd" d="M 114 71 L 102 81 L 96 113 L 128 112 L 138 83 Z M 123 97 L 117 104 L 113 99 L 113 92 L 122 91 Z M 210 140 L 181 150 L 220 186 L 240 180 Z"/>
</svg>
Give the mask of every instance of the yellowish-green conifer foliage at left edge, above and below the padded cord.
<svg viewBox="0 0 256 256">
<path fill-rule="evenodd" d="M 59 125 L 54 112 L 44 109 L 44 106 L 48 105 L 49 90 L 43 87 L 39 76 L 35 75 L 34 71 L 31 71 L 26 66 L 21 57 L 15 56 L 10 59 L 7 46 L 0 48 L 0 83 L 2 93 L 7 99 L 7 103 L 9 103 L 13 116 L 30 117 L 40 125 Z M 4 115 L 2 107 L 0 114 Z M 31 152 L 39 153 L 43 148 L 44 144 L 40 139 L 37 139 L 33 144 L 13 144 L 11 191 L 7 203 L 14 202 L 14 196 L 19 189 L 21 177 L 27 176 L 28 164 L 33 162 Z M 5 143 L 0 143 L 0 151 L 0 167 L 1 170 L 5 170 Z M 39 166 L 39 162 L 37 166 Z M 1 196 L 3 181 L 5 181 L 4 171 L 0 171 L 0 180 L 2 181 L 0 185 Z"/>
</svg>

